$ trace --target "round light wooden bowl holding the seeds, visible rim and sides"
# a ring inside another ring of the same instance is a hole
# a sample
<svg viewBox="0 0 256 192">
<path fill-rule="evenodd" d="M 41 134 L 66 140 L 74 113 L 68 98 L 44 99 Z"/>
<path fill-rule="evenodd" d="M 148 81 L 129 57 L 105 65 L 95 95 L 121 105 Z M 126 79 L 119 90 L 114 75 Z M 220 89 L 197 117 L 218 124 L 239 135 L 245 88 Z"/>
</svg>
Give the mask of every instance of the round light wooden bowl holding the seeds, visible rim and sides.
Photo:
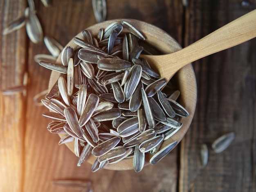
<svg viewBox="0 0 256 192">
<path fill-rule="evenodd" d="M 159 51 L 162 51 L 162 53 L 164 54 L 172 53 L 181 49 L 181 46 L 168 33 L 163 31 L 162 29 L 159 29 L 158 27 L 155 27 L 154 25 L 151 25 L 139 20 L 133 20 L 133 19 L 108 20 L 105 22 L 97 23 L 91 27 L 88 27 L 87 30 L 90 31 L 92 35 L 96 37 L 100 28 L 104 29 L 108 25 L 110 25 L 112 22 L 121 22 L 123 20 L 129 22 L 136 29 L 141 31 L 141 33 L 143 33 L 144 36 L 146 37 L 146 42 L 150 43 L 151 45 L 159 49 Z M 76 37 L 83 38 L 81 33 L 79 33 Z M 73 49 L 76 49 L 78 47 L 76 44 L 74 44 L 74 42 L 72 42 L 72 40 L 66 46 L 71 46 L 73 47 Z M 56 63 L 62 65 L 61 56 L 58 57 Z M 52 88 L 56 80 L 58 80 L 59 76 L 60 76 L 60 73 L 56 71 L 52 71 L 52 74 L 49 80 L 49 90 Z M 189 125 L 191 124 L 191 121 L 195 112 L 197 88 L 196 88 L 195 74 L 194 74 L 192 65 L 189 64 L 183 67 L 182 69 L 180 69 L 175 74 L 175 76 L 173 76 L 173 78 L 176 82 L 176 86 L 181 92 L 178 102 L 183 107 L 186 108 L 186 110 L 189 112 L 189 116 L 186 118 L 180 118 L 180 121 L 183 123 L 183 126 L 171 138 L 164 141 L 162 144 L 162 147 L 176 140 L 180 142 L 180 140 L 184 137 L 187 130 L 189 129 Z M 62 135 L 60 134 L 60 136 Z M 66 145 L 67 147 L 70 148 L 72 152 L 74 152 L 74 143 L 67 143 Z M 146 154 L 144 166 L 149 164 L 149 160 L 151 156 L 152 156 L 151 154 L 148 154 L 148 153 Z M 96 157 L 94 157 L 91 154 L 86 161 L 92 164 L 94 163 L 95 160 L 96 160 Z M 130 170 L 130 169 L 133 169 L 133 159 L 132 158 L 124 159 L 119 163 L 109 164 L 105 168 L 110 170 Z"/>
</svg>

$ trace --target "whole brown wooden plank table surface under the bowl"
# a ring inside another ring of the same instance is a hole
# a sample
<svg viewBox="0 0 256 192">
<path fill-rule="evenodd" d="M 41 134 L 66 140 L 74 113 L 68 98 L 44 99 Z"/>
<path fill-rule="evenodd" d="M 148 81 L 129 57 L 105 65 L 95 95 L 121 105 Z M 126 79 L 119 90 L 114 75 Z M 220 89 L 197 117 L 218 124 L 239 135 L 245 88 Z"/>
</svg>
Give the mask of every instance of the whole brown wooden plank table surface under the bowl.
<svg viewBox="0 0 256 192">
<path fill-rule="evenodd" d="M 65 45 L 82 29 L 96 23 L 90 0 L 52 0 L 46 8 L 35 0 L 44 35 Z M 152 23 L 183 47 L 255 9 L 255 0 L 107 0 L 107 19 L 135 18 Z M 24 13 L 26 0 L 0 1 L 0 33 Z M 0 88 L 22 85 L 29 74 L 27 96 L 0 94 L 0 191 L 71 192 L 52 185 L 54 179 L 90 180 L 95 192 L 252 192 L 256 191 L 256 39 L 193 63 L 198 103 L 182 142 L 157 165 L 139 172 L 76 167 L 77 157 L 59 137 L 50 134 L 47 109 L 33 97 L 47 89 L 50 71 L 34 62 L 34 55 L 49 54 L 43 42 L 33 44 L 25 28 L 0 36 Z M 220 154 L 211 143 L 236 132 L 231 146 Z M 209 163 L 200 165 L 198 148 L 209 146 Z"/>
</svg>

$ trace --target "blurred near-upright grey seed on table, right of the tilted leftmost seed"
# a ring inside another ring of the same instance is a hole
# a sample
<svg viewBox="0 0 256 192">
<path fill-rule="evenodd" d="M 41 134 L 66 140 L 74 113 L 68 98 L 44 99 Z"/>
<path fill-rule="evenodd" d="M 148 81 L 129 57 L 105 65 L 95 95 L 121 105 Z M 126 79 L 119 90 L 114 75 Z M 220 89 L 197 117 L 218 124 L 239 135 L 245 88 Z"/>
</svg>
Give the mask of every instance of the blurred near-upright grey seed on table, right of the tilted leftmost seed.
<svg viewBox="0 0 256 192">
<path fill-rule="evenodd" d="M 27 19 L 26 30 L 29 39 L 34 43 L 41 42 L 43 40 L 43 29 L 36 14 L 27 7 L 25 9 L 25 17 Z"/>
</svg>

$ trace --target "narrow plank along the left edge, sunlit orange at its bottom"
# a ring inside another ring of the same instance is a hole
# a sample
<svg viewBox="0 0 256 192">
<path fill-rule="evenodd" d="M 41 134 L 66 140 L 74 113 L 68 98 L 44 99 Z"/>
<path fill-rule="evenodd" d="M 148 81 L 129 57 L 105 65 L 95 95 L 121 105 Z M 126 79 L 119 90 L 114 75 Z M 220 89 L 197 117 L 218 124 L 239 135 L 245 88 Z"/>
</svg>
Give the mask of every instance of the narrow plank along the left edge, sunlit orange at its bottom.
<svg viewBox="0 0 256 192">
<path fill-rule="evenodd" d="M 9 22 L 22 16 L 24 9 L 24 0 L 0 2 L 0 191 L 19 192 L 23 184 L 25 98 L 22 92 L 14 95 L 2 92 L 22 86 L 26 35 L 24 28 L 5 36 L 2 31 Z"/>
</svg>

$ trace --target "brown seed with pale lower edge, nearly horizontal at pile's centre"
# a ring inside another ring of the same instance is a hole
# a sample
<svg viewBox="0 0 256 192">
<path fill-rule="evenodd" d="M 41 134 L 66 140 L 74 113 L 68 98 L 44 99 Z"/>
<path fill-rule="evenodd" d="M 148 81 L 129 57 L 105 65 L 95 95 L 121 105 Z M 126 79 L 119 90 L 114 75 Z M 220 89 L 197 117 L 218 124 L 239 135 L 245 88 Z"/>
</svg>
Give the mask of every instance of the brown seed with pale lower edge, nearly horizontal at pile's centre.
<svg viewBox="0 0 256 192">
<path fill-rule="evenodd" d="M 101 112 L 92 117 L 93 121 L 111 121 L 121 116 L 121 110 L 117 108 L 110 109 L 108 111 Z"/>
</svg>

